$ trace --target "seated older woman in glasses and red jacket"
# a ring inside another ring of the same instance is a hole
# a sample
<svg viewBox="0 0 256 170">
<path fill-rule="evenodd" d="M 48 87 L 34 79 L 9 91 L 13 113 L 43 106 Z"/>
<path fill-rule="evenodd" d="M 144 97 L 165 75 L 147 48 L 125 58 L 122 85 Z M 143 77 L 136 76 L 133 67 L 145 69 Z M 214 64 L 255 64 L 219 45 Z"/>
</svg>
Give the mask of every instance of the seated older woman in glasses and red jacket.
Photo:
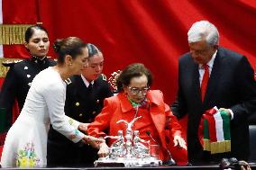
<svg viewBox="0 0 256 170">
<path fill-rule="evenodd" d="M 171 131 L 175 146 L 187 148 L 185 140 L 181 138 L 181 127 L 169 106 L 164 103 L 163 94 L 159 90 L 150 90 L 152 76 L 148 68 L 140 63 L 131 64 L 123 69 L 116 84 L 119 93 L 105 99 L 102 112 L 88 126 L 89 135 L 97 138 L 117 136 L 118 130 L 126 130 L 125 124 L 117 124 L 117 121 L 130 122 L 142 116 L 134 122 L 133 130 L 139 130 L 140 138 L 150 140 L 151 145 L 160 145 L 161 160 L 169 159 L 165 129 Z M 105 134 L 105 130 L 109 133 Z M 113 139 L 109 142 L 111 145 Z M 108 147 L 105 143 L 99 147 L 99 157 L 105 157 Z"/>
</svg>

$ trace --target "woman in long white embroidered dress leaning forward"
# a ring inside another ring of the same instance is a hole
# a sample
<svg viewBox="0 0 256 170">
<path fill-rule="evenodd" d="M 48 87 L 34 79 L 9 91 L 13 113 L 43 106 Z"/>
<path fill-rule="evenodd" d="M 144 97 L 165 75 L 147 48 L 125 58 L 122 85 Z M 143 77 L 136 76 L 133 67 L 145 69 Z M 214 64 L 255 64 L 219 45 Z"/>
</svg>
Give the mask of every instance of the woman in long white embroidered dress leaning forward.
<svg viewBox="0 0 256 170">
<path fill-rule="evenodd" d="M 76 37 L 56 40 L 58 64 L 34 77 L 23 110 L 8 131 L 1 158 L 3 167 L 47 166 L 47 138 L 50 123 L 54 130 L 73 142 L 96 146 L 102 140 L 84 135 L 84 125 L 65 115 L 66 83 L 87 66 L 87 44 Z"/>
</svg>

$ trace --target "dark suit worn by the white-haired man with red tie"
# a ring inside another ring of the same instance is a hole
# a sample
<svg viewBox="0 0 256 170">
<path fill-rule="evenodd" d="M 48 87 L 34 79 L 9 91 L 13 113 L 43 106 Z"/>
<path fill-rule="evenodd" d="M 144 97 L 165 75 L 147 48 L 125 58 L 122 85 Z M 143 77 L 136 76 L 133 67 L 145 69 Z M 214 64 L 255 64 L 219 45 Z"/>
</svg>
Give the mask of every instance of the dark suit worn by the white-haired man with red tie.
<svg viewBox="0 0 256 170">
<path fill-rule="evenodd" d="M 247 117 L 256 107 L 256 83 L 253 75 L 253 69 L 247 58 L 229 49 L 218 48 L 205 101 L 202 103 L 198 65 L 189 53 L 179 58 L 178 98 L 172 104 L 171 110 L 178 118 L 186 114 L 188 116 L 187 151 L 190 162 L 200 162 L 205 156 L 197 131 L 202 114 L 214 106 L 233 111 L 232 152 L 222 157 L 237 157 L 245 160 L 248 158 L 250 149 Z"/>
</svg>

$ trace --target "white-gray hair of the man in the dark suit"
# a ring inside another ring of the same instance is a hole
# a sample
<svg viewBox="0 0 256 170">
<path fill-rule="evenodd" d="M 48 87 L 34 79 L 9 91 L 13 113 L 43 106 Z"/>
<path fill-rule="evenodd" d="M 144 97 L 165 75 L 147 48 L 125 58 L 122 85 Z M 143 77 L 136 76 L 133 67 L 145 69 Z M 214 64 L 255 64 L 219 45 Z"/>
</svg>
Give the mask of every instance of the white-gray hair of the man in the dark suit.
<svg viewBox="0 0 256 170">
<path fill-rule="evenodd" d="M 208 21 L 195 22 L 187 32 L 188 43 L 206 40 L 208 45 L 219 44 L 219 31 L 215 25 Z"/>
</svg>

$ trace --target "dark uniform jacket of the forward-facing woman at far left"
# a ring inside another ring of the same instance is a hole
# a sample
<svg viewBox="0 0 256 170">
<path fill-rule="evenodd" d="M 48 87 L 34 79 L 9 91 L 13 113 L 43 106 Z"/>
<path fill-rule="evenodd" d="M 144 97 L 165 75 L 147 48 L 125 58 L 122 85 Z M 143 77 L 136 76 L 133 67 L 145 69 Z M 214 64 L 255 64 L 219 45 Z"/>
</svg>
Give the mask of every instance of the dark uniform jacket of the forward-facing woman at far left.
<svg viewBox="0 0 256 170">
<path fill-rule="evenodd" d="M 0 108 L 5 108 L 7 129 L 12 126 L 13 106 L 15 100 L 22 111 L 26 96 L 31 87 L 32 79 L 41 70 L 56 65 L 56 62 L 49 58 L 28 58 L 10 67 L 2 85 Z"/>
</svg>

